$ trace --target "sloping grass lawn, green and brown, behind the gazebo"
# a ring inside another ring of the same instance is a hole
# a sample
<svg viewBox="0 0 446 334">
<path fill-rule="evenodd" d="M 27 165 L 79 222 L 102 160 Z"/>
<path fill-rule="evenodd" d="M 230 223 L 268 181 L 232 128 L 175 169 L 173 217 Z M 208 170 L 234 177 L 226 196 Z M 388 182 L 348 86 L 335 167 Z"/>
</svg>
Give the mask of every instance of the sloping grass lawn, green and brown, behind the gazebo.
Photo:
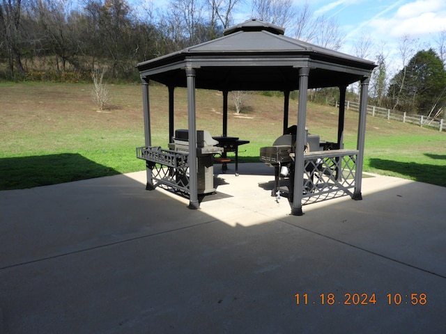
<svg viewBox="0 0 446 334">
<path fill-rule="evenodd" d="M 135 148 L 144 145 L 139 85 L 109 86 L 112 101 L 98 111 L 88 84 L 0 83 L 0 190 L 22 189 L 143 170 Z M 168 92 L 151 86 L 153 145 L 167 148 Z M 175 128 L 187 128 L 186 90 L 175 91 Z M 259 161 L 259 148 L 282 132 L 281 97 L 249 95 L 243 113 L 230 101 L 228 135 L 250 141 L 240 161 Z M 232 108 L 232 109 L 231 109 Z M 289 125 L 298 103 L 290 103 Z M 356 146 L 358 114 L 346 112 L 344 143 Z M 322 140 L 337 137 L 337 109 L 309 104 L 307 127 Z M 222 133 L 222 93 L 197 90 L 197 129 Z M 367 118 L 364 171 L 446 186 L 446 134 Z"/>
</svg>

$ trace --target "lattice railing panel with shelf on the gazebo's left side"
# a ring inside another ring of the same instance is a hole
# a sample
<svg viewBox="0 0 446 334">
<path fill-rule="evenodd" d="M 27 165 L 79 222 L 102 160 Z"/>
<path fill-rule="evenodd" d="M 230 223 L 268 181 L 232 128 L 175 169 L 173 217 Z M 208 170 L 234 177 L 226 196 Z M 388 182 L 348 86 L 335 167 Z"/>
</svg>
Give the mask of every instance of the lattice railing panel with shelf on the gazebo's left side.
<svg viewBox="0 0 446 334">
<path fill-rule="evenodd" d="M 137 148 L 137 158 L 146 160 L 151 169 L 153 186 L 167 186 L 190 193 L 188 152 L 163 150 L 160 146 Z"/>
</svg>

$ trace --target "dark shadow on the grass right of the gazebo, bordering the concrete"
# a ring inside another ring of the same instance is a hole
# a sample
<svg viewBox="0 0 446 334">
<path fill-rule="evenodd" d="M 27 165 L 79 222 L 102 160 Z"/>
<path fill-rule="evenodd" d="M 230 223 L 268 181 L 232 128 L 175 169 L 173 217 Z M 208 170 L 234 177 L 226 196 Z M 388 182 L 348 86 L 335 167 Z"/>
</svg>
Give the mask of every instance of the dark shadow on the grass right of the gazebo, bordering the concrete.
<svg viewBox="0 0 446 334">
<path fill-rule="evenodd" d="M 427 155 L 427 154 L 426 154 Z M 436 155 L 436 154 L 429 154 Z M 445 159 L 444 156 L 438 155 L 433 159 Z M 399 162 L 386 159 L 370 159 L 370 167 L 388 170 L 400 175 L 410 177 L 410 179 L 425 182 L 430 184 L 437 184 L 439 186 L 446 186 L 446 166 L 417 164 L 416 162 Z"/>
</svg>

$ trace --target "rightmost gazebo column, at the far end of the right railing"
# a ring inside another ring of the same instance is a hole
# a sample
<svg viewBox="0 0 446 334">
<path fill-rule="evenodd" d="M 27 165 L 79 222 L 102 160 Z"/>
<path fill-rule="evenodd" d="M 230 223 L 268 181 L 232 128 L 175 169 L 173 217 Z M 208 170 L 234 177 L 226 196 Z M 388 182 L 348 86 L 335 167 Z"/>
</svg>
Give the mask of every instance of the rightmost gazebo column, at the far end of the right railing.
<svg viewBox="0 0 446 334">
<path fill-rule="evenodd" d="M 357 145 L 358 150 L 355 167 L 355 191 L 353 192 L 353 200 L 362 200 L 361 184 L 362 184 L 362 165 L 364 164 L 364 143 L 365 143 L 365 122 L 367 118 L 367 99 L 369 97 L 369 77 L 361 80 L 361 96 L 360 96 L 360 118 L 357 129 Z"/>
</svg>

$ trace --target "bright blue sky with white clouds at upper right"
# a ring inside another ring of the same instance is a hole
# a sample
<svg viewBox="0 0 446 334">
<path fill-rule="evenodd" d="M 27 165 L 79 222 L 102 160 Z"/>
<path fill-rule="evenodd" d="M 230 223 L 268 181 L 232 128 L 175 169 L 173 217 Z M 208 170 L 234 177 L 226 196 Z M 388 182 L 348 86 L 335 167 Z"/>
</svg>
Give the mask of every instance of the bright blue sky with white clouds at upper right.
<svg viewBox="0 0 446 334">
<path fill-rule="evenodd" d="M 406 35 L 426 47 L 446 30 L 446 0 L 312 0 L 310 6 L 315 15 L 337 19 L 345 33 L 343 51 L 364 33 L 376 45 L 397 47 Z"/>
</svg>

